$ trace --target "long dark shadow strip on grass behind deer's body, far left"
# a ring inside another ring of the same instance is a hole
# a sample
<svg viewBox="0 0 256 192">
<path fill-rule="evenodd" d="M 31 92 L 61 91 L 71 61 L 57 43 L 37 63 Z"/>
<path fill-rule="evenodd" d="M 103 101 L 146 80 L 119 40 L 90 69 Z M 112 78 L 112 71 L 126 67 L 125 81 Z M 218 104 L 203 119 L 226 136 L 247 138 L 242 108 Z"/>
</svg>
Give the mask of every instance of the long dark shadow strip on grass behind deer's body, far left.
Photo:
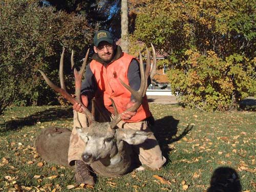
<svg viewBox="0 0 256 192">
<path fill-rule="evenodd" d="M 5 129 L 0 129 L 0 133 L 22 129 L 24 126 L 30 126 L 40 122 L 54 121 L 56 119 L 73 118 L 71 108 L 51 108 L 45 111 L 34 113 L 28 117 L 18 118 L 5 122 Z"/>
</svg>

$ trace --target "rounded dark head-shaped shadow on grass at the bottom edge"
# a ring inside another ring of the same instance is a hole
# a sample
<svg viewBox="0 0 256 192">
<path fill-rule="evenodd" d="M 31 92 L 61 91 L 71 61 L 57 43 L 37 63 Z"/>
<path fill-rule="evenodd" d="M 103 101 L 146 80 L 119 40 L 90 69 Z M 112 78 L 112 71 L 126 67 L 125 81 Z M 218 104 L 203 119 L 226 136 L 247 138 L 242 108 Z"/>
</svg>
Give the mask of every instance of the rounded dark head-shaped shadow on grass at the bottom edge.
<svg viewBox="0 0 256 192">
<path fill-rule="evenodd" d="M 215 169 L 211 176 L 210 187 L 207 189 L 207 192 L 215 191 L 242 191 L 240 179 L 236 170 L 231 167 L 219 167 Z"/>
</svg>

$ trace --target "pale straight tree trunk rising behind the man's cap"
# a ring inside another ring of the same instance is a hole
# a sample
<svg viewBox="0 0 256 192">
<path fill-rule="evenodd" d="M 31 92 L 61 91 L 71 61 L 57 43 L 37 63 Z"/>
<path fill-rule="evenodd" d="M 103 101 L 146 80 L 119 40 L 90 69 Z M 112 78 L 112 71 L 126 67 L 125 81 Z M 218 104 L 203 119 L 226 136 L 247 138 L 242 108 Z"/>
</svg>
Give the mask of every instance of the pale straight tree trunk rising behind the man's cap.
<svg viewBox="0 0 256 192">
<path fill-rule="evenodd" d="M 127 0 L 122 0 L 122 2 L 121 2 L 121 48 L 122 48 L 123 52 L 129 53 Z"/>
</svg>

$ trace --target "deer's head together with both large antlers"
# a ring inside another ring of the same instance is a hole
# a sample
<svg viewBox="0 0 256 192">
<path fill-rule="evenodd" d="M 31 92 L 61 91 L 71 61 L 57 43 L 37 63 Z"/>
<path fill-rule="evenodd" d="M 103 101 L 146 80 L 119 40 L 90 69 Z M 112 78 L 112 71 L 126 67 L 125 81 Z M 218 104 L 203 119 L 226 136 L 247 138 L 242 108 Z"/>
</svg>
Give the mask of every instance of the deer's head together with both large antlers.
<svg viewBox="0 0 256 192">
<path fill-rule="evenodd" d="M 139 53 L 139 62 L 140 62 L 140 72 L 141 72 L 141 84 L 138 91 L 133 90 L 131 87 L 127 86 L 121 79 L 120 82 L 122 85 L 131 92 L 131 94 L 135 97 L 136 103 L 126 111 L 135 112 L 139 108 L 142 103 L 142 99 L 146 94 L 147 89 L 147 79 L 150 75 L 151 78 L 155 75 L 156 69 L 156 53 L 154 46 L 151 44 L 153 49 L 153 66 L 151 70 L 151 54 L 150 51 L 146 48 L 147 52 L 147 61 L 146 61 L 146 68 L 144 70 L 143 61 L 141 53 Z M 122 151 L 123 141 L 129 144 L 140 144 L 143 143 L 152 132 L 142 132 L 136 131 L 131 129 L 116 129 L 117 123 L 121 121 L 121 115 L 118 114 L 115 102 L 113 99 L 112 105 L 115 110 L 115 118 L 111 122 L 104 122 L 99 123 L 94 120 L 93 115 L 91 112 L 84 106 L 80 100 L 80 89 L 81 89 L 81 78 L 84 73 L 84 69 L 86 66 L 87 58 L 89 50 L 87 51 L 86 57 L 83 61 L 82 67 L 79 72 L 74 69 L 75 75 L 75 89 L 76 89 L 76 98 L 72 97 L 65 89 L 65 83 L 63 80 L 63 55 L 65 49 L 63 49 L 60 59 L 60 67 L 59 67 L 59 78 L 61 88 L 55 86 L 55 84 L 48 79 L 44 72 L 39 72 L 42 74 L 48 85 L 55 90 L 56 92 L 60 93 L 64 98 L 66 98 L 72 104 L 79 103 L 81 104 L 82 113 L 84 113 L 87 118 L 89 119 L 89 127 L 76 127 L 76 131 L 78 136 L 86 143 L 86 148 L 82 154 L 82 159 L 84 162 L 92 163 L 96 160 L 102 159 L 111 159 L 113 157 L 117 157 L 118 152 Z M 73 59 L 73 51 L 71 55 L 71 64 L 72 67 L 74 66 L 74 59 Z M 152 73 L 151 73 L 152 72 Z M 115 158 L 118 161 L 118 158 Z M 111 163 L 111 162 L 110 162 Z"/>
</svg>

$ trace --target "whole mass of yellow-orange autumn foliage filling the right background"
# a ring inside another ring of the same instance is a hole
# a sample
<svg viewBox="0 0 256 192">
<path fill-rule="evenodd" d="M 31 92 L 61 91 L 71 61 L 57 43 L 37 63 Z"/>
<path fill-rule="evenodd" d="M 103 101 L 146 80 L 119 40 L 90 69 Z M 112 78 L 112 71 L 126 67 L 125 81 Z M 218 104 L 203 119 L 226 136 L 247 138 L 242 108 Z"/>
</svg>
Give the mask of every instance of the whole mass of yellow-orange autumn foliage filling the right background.
<svg viewBox="0 0 256 192">
<path fill-rule="evenodd" d="M 156 0 L 136 11 L 131 39 L 169 55 L 160 64 L 185 104 L 229 110 L 255 94 L 255 2 Z"/>
</svg>

